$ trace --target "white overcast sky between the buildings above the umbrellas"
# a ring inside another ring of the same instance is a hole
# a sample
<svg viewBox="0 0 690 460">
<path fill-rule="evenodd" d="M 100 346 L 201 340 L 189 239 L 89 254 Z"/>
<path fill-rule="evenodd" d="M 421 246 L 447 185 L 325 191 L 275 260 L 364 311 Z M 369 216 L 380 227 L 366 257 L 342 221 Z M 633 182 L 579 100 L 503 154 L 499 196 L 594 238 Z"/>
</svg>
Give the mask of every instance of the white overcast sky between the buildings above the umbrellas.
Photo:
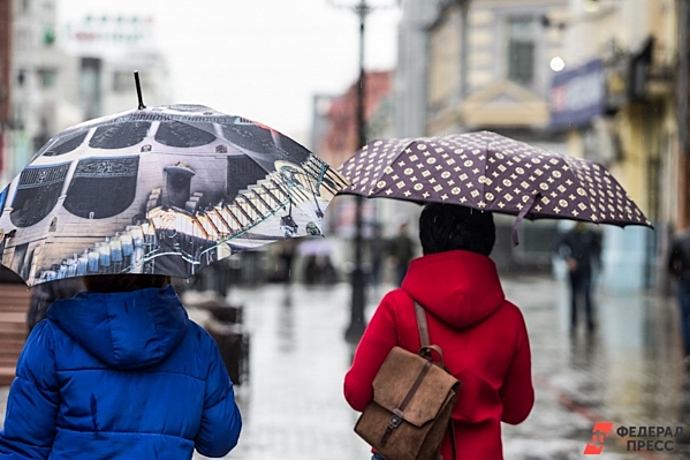
<svg viewBox="0 0 690 460">
<path fill-rule="evenodd" d="M 60 23 L 87 14 L 154 18 L 171 103 L 208 105 L 303 141 L 312 96 L 343 93 L 358 75 L 357 15 L 329 0 L 58 0 Z M 399 16 L 396 8 L 381 8 L 367 17 L 367 69 L 395 66 Z"/>
</svg>

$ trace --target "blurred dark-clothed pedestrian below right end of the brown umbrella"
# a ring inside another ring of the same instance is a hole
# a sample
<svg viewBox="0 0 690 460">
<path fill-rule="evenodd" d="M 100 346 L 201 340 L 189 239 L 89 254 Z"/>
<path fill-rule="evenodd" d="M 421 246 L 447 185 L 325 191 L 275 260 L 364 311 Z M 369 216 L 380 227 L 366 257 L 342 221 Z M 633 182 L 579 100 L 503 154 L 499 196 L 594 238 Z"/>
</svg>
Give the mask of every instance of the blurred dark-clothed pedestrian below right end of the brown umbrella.
<svg viewBox="0 0 690 460">
<path fill-rule="evenodd" d="M 587 331 L 596 327 L 592 284 L 594 270 L 601 270 L 601 234 L 584 222 L 577 222 L 558 243 L 558 252 L 565 259 L 570 290 L 570 332 L 575 333 L 578 310 L 584 307 Z"/>
</svg>

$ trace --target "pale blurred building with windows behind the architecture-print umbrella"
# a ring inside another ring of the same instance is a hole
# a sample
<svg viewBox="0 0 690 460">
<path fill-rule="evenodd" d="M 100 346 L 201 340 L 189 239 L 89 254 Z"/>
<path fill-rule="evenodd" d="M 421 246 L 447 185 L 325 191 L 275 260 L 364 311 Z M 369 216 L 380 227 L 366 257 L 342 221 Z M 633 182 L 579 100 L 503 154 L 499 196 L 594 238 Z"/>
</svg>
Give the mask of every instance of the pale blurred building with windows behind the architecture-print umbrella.
<svg viewBox="0 0 690 460">
<path fill-rule="evenodd" d="M 8 72 L 7 94 L 0 89 L 0 111 L 8 118 L 0 120 L 0 184 L 8 183 L 57 132 L 136 108 L 134 70 L 141 75 L 147 105 L 172 103 L 151 18 L 89 16 L 57 24 L 55 0 L 11 0 L 0 6 L 11 7 L 11 15 L 0 16 L 10 37 L 0 40 L 0 49 L 9 48 L 7 68 L 0 51 L 0 73 Z"/>
</svg>

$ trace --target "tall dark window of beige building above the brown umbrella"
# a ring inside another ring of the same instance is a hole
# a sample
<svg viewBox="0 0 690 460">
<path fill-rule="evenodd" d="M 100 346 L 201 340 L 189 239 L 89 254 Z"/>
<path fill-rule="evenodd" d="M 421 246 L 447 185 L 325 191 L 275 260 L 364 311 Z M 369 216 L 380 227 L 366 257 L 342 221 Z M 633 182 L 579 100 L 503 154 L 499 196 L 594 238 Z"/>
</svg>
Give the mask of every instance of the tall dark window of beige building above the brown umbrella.
<svg viewBox="0 0 690 460">
<path fill-rule="evenodd" d="M 534 82 L 536 25 L 532 17 L 508 20 L 508 79 L 525 86 Z"/>
</svg>

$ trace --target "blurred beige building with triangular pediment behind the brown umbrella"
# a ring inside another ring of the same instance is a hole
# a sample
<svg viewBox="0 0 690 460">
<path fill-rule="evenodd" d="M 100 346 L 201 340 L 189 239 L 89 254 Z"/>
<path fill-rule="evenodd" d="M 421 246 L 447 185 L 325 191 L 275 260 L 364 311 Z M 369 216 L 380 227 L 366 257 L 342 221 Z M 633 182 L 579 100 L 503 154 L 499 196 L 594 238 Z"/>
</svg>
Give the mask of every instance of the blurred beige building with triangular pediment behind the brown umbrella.
<svg viewBox="0 0 690 460">
<path fill-rule="evenodd" d="M 567 13 L 568 0 L 440 2 L 427 37 L 427 134 L 486 129 L 565 154 L 565 133 L 550 127 L 549 89 Z M 500 268 L 550 270 L 556 222 L 523 222 L 512 247 L 514 218 L 495 219 Z"/>
</svg>

